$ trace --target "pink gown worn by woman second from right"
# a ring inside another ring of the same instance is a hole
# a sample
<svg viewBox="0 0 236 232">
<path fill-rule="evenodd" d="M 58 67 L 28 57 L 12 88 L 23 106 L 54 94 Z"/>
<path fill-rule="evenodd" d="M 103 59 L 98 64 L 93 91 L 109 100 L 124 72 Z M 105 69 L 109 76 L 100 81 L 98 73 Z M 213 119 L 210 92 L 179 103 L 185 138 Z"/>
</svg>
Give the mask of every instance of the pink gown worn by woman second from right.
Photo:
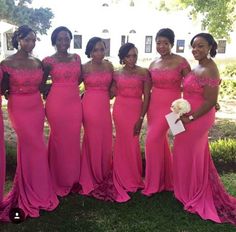
<svg viewBox="0 0 236 232">
<path fill-rule="evenodd" d="M 147 112 L 145 187 L 142 191 L 147 196 L 173 190 L 172 154 L 165 115 L 170 113 L 171 103 L 181 97 L 181 71 L 187 67 L 189 64 L 184 60 L 176 68 L 150 70 L 153 87 Z"/>
</svg>

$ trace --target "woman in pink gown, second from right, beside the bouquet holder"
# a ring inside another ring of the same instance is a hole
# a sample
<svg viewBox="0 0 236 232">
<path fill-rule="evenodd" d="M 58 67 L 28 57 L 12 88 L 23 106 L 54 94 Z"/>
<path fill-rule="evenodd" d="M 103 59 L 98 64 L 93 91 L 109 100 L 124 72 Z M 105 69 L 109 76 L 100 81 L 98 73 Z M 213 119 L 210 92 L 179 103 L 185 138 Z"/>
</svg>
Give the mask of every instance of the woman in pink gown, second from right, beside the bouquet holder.
<svg viewBox="0 0 236 232">
<path fill-rule="evenodd" d="M 170 112 L 172 101 L 181 97 L 182 79 L 190 71 L 188 62 L 171 52 L 174 39 L 174 32 L 169 28 L 157 32 L 156 49 L 160 57 L 149 67 L 153 86 L 147 112 L 145 188 L 142 191 L 146 196 L 173 190 L 169 126 L 165 115 Z"/>
</svg>

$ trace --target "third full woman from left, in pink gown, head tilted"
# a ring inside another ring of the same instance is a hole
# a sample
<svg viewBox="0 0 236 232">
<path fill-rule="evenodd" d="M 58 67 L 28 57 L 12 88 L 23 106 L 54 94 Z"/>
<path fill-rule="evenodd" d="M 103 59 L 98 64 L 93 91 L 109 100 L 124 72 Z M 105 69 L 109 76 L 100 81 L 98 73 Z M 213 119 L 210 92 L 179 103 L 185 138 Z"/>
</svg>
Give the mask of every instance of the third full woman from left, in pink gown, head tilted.
<svg viewBox="0 0 236 232">
<path fill-rule="evenodd" d="M 129 196 L 123 189 L 117 191 L 112 176 L 110 87 L 113 65 L 104 60 L 105 44 L 99 37 L 88 41 L 85 54 L 91 60 L 82 66 L 85 92 L 82 99 L 84 137 L 80 193 L 124 202 Z"/>
</svg>

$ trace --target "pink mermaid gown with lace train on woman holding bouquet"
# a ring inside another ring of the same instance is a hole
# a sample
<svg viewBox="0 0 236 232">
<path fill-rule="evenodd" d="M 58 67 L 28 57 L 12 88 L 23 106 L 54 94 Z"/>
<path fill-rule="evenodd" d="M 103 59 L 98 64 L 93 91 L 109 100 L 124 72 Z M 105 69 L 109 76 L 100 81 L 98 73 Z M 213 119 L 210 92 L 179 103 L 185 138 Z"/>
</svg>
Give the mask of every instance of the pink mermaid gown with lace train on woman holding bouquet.
<svg viewBox="0 0 236 232">
<path fill-rule="evenodd" d="M 201 78 L 190 73 L 184 79 L 184 98 L 191 112 L 204 102 L 203 86 L 217 86 L 219 79 Z M 230 196 L 220 180 L 211 158 L 208 131 L 214 124 L 215 109 L 185 125 L 186 131 L 174 140 L 174 193 L 184 209 L 201 218 L 236 225 L 236 198 Z"/>
</svg>

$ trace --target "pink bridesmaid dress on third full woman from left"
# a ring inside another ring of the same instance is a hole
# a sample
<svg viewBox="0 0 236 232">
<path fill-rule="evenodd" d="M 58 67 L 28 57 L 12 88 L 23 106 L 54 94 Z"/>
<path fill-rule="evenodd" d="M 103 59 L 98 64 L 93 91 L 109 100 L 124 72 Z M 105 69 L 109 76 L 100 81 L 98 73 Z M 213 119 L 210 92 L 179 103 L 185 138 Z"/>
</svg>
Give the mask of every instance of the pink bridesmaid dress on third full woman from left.
<svg viewBox="0 0 236 232">
<path fill-rule="evenodd" d="M 88 194 L 105 179 L 112 164 L 112 121 L 109 87 L 112 72 L 84 75 L 82 99 L 84 137 L 80 184 Z"/>
</svg>

